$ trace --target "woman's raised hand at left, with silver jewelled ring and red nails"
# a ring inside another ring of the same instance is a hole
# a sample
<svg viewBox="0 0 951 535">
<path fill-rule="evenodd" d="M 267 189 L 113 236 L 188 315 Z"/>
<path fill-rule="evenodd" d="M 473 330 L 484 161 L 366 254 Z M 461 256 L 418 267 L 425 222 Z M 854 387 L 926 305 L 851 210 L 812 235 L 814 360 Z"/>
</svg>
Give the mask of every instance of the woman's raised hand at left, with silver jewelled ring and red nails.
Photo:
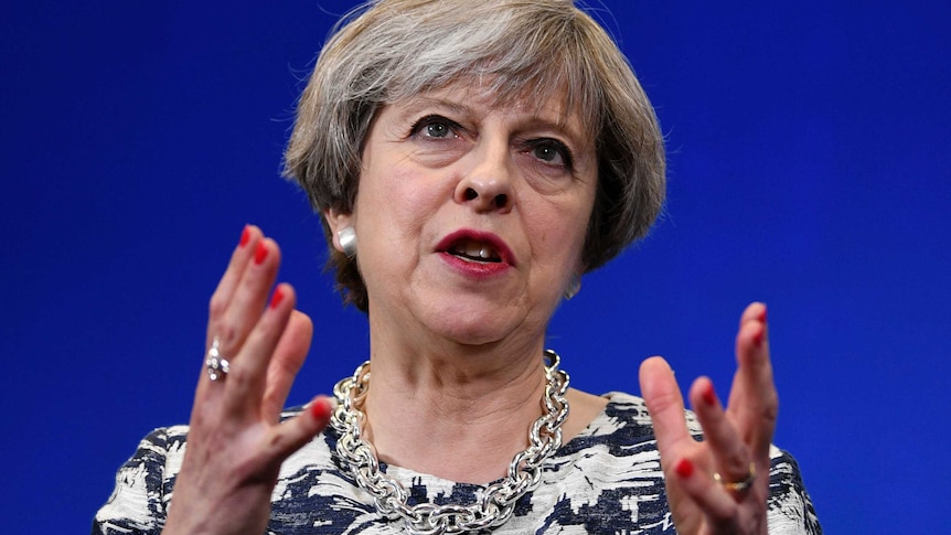
<svg viewBox="0 0 951 535">
<path fill-rule="evenodd" d="M 310 346 L 313 325 L 277 277 L 280 249 L 246 226 L 211 299 L 209 350 L 217 341 L 227 373 L 202 372 L 164 533 L 264 533 L 280 464 L 330 419 L 325 398 L 279 421 Z"/>
</svg>

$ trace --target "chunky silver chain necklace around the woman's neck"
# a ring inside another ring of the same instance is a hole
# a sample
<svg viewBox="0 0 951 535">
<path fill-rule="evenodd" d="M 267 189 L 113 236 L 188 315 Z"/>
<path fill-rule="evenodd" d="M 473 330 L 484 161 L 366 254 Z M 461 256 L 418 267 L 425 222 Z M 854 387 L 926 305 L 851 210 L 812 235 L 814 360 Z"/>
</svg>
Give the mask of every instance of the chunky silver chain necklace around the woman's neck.
<svg viewBox="0 0 951 535">
<path fill-rule="evenodd" d="M 403 518 L 417 535 L 464 533 L 495 527 L 512 516 L 515 502 L 542 481 L 542 463 L 562 447 L 562 424 L 568 417 L 568 374 L 558 370 L 560 357 L 545 351 L 545 414 L 528 429 L 528 449 L 520 451 L 509 464 L 509 475 L 489 485 L 481 499 L 471 505 L 409 505 L 409 493 L 403 483 L 380 471 L 376 451 L 361 438 L 366 415 L 363 403 L 370 392 L 370 361 L 361 364 L 352 377 L 333 387 L 338 404 L 331 425 L 340 432 L 336 452 L 346 462 L 361 489 L 373 496 L 376 510 L 391 520 Z"/>
</svg>

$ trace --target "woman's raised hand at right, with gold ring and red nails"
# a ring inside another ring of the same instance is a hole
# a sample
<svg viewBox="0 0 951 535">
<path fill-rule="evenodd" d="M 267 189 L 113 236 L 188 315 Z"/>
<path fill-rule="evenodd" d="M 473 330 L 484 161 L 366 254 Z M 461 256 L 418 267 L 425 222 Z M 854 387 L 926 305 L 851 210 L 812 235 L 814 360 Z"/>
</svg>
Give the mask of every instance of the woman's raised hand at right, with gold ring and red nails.
<svg viewBox="0 0 951 535">
<path fill-rule="evenodd" d="M 661 357 L 641 364 L 667 500 L 677 533 L 766 534 L 769 448 L 779 398 L 772 381 L 766 306 L 752 303 L 736 338 L 738 368 L 726 410 L 707 377 L 694 381 L 691 405 L 704 440 L 691 436 L 673 372 Z"/>
</svg>

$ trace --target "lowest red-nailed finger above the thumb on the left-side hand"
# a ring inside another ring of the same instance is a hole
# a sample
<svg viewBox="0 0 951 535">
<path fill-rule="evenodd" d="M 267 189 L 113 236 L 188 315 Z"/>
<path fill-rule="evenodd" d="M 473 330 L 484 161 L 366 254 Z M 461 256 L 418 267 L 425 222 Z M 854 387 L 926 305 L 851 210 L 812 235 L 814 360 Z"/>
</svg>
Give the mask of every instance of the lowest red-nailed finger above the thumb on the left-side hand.
<svg viewBox="0 0 951 535">
<path fill-rule="evenodd" d="M 263 396 L 267 370 L 297 304 L 293 288 L 280 283 L 275 288 L 270 303 L 242 346 L 241 355 L 232 363 L 228 374 L 227 404 L 242 414 L 263 417 Z"/>
</svg>

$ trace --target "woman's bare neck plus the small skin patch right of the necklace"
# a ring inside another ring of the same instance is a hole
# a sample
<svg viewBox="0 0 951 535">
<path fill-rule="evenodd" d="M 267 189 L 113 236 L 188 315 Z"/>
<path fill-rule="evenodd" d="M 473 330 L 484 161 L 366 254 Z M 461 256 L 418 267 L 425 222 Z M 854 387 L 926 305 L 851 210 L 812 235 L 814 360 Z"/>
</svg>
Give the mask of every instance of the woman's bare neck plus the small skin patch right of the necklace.
<svg viewBox="0 0 951 535">
<path fill-rule="evenodd" d="M 363 436 L 378 458 L 457 482 L 505 477 L 543 413 L 544 332 L 463 344 L 378 318 L 370 314 L 373 372 L 363 406 Z M 574 389 L 567 397 L 563 442 L 606 404 Z"/>
</svg>

